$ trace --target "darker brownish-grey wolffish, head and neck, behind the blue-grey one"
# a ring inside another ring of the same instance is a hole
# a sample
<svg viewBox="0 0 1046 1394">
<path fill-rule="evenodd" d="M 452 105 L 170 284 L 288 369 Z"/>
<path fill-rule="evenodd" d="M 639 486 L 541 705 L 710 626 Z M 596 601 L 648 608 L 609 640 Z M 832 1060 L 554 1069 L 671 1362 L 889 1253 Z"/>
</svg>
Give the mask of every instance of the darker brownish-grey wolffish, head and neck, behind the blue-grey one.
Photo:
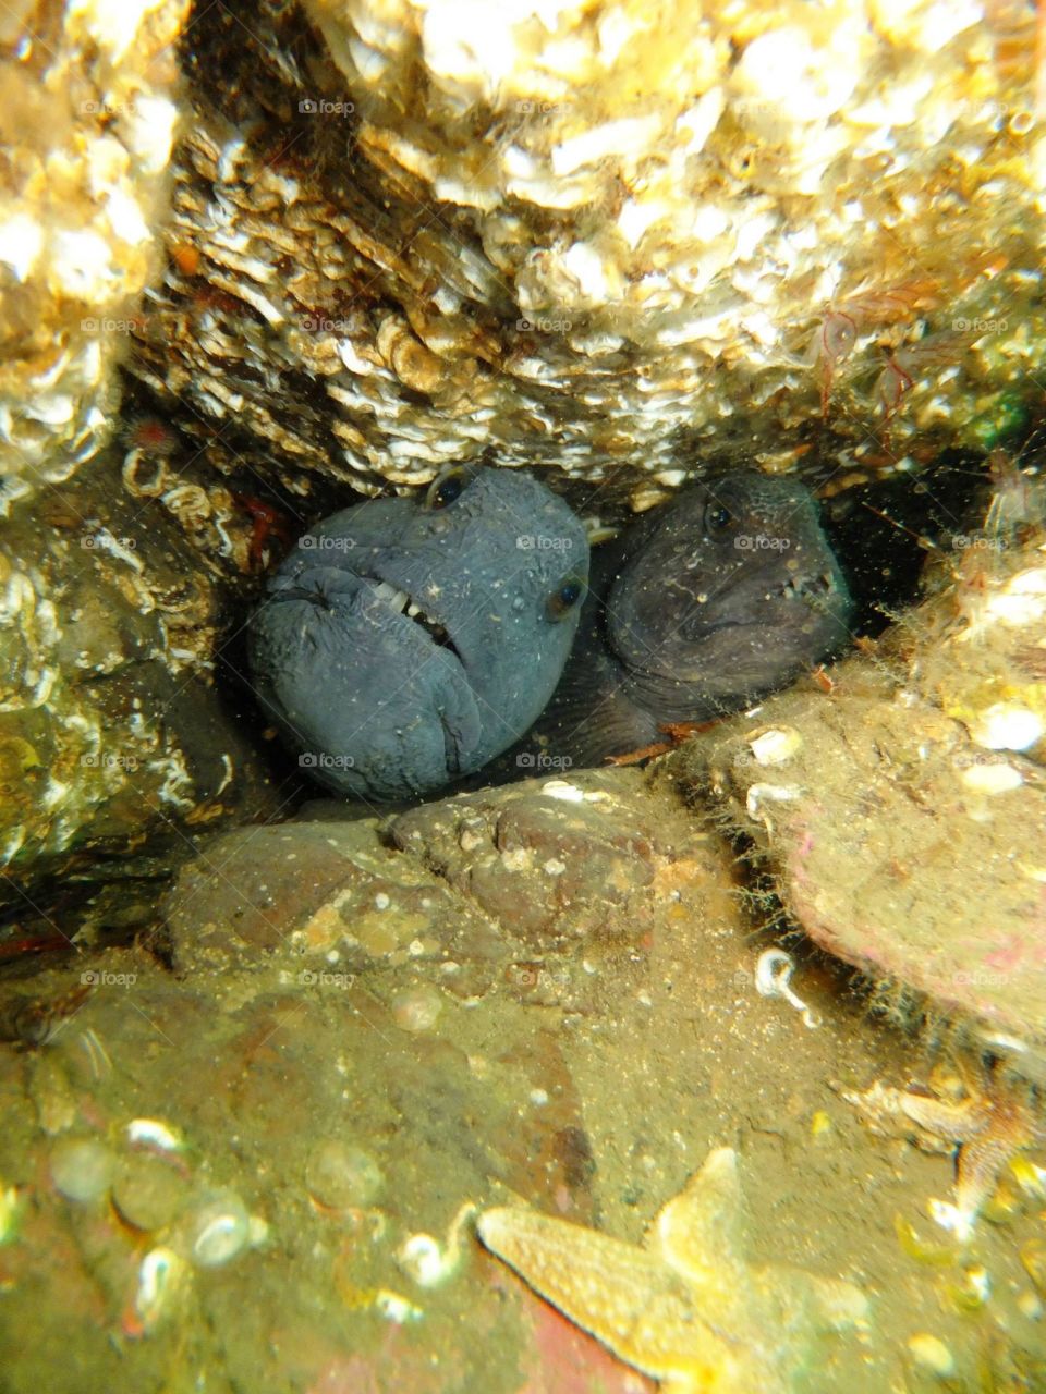
<svg viewBox="0 0 1046 1394">
<path fill-rule="evenodd" d="M 593 553 L 577 643 L 527 746 L 593 765 L 736 711 L 842 645 L 849 613 L 803 485 L 755 470 L 696 484 Z"/>
</svg>

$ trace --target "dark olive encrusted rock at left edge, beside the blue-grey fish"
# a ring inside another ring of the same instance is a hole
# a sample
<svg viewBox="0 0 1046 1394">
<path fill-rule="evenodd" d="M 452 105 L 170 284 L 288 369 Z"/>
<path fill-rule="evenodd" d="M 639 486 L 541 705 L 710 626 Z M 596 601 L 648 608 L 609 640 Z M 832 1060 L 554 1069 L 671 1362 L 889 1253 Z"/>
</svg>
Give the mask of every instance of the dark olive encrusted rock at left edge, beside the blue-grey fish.
<svg viewBox="0 0 1046 1394">
<path fill-rule="evenodd" d="M 145 474 L 159 478 L 155 460 Z M 233 651 L 215 680 L 218 636 L 229 643 L 241 626 L 234 583 L 250 519 L 230 506 L 222 556 L 220 513 L 198 485 L 174 475 L 142 495 L 128 480 L 106 452 L 35 509 L 20 506 L 0 535 L 8 878 L 280 802 L 237 711 L 250 694 L 237 693 Z M 21 903 L 14 880 L 0 894 L 10 899 Z"/>
</svg>

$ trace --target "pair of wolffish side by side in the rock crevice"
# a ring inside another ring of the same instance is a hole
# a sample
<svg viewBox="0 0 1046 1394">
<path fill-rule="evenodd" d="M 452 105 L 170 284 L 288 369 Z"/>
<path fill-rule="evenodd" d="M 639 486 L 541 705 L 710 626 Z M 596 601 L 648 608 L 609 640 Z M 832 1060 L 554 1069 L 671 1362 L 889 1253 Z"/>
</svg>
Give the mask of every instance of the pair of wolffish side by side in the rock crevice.
<svg viewBox="0 0 1046 1394">
<path fill-rule="evenodd" d="M 600 764 L 781 686 L 847 637 L 849 597 L 799 484 L 683 489 L 590 556 L 513 470 L 344 509 L 298 539 L 250 622 L 262 707 L 339 795 L 391 802 L 483 769 L 541 718 Z"/>
</svg>

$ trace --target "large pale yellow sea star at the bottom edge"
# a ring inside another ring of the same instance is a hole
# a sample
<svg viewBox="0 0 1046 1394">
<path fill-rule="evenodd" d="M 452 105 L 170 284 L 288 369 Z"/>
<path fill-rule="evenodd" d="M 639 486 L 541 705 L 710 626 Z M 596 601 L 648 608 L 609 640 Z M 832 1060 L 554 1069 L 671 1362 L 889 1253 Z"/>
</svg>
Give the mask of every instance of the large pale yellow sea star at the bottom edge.
<svg viewBox="0 0 1046 1394">
<path fill-rule="evenodd" d="M 660 1211 L 644 1246 L 526 1207 L 480 1238 L 541 1296 L 671 1394 L 787 1394 L 817 1335 L 861 1322 L 852 1284 L 743 1256 L 736 1153 L 720 1147 Z"/>
</svg>

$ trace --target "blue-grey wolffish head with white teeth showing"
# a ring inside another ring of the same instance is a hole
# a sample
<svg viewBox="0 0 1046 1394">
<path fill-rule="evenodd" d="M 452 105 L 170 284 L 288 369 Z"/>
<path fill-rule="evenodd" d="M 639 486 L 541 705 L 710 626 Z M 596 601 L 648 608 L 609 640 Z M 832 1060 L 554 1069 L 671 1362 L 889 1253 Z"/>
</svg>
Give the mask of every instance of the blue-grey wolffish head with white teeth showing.
<svg viewBox="0 0 1046 1394">
<path fill-rule="evenodd" d="M 582 524 L 512 470 L 344 509 L 298 539 L 251 620 L 259 697 L 339 793 L 438 789 L 537 719 L 587 577 Z"/>
</svg>

